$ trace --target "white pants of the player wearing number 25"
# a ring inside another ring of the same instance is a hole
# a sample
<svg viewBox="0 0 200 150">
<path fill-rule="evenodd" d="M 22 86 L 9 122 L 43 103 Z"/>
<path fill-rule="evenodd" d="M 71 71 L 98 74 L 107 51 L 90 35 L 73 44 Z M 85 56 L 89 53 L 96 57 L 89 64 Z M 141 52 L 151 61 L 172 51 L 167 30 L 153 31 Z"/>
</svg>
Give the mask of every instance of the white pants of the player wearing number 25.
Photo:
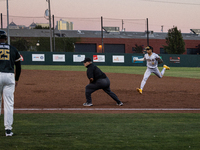
<svg viewBox="0 0 200 150">
<path fill-rule="evenodd" d="M 7 85 L 3 88 L 4 126 L 5 130 L 12 130 L 15 91 L 14 74 L 8 74 L 5 80 Z"/>
</svg>

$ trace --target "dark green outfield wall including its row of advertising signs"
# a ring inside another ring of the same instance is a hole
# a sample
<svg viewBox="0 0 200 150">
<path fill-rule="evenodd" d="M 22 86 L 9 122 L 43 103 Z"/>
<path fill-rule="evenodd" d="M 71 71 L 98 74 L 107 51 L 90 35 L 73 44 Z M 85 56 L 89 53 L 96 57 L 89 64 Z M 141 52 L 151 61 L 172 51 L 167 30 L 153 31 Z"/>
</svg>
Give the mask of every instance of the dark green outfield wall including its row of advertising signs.
<svg viewBox="0 0 200 150">
<path fill-rule="evenodd" d="M 146 66 L 146 62 L 133 62 L 143 54 L 115 53 L 73 53 L 73 52 L 20 52 L 22 65 L 82 65 L 90 57 L 96 65 L 104 66 Z M 200 55 L 159 54 L 164 64 L 170 67 L 200 67 Z M 163 64 L 159 65 L 162 66 Z"/>
</svg>

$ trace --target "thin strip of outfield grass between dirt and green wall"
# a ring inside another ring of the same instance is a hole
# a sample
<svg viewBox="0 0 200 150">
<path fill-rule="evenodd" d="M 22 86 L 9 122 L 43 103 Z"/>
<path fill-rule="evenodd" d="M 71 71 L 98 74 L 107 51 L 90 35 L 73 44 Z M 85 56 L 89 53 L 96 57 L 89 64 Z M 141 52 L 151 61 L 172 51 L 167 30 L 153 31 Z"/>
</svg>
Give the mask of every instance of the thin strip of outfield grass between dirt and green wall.
<svg viewBox="0 0 200 150">
<path fill-rule="evenodd" d="M 104 72 L 110 73 L 126 73 L 126 74 L 141 74 L 143 75 L 146 67 L 138 66 L 98 66 Z M 43 66 L 43 65 L 23 65 L 22 69 L 30 70 L 62 70 L 62 71 L 86 71 L 84 66 Z M 159 67 L 161 70 L 162 67 Z M 171 67 L 165 72 L 165 76 L 196 78 L 200 79 L 200 68 L 197 67 Z"/>
</svg>

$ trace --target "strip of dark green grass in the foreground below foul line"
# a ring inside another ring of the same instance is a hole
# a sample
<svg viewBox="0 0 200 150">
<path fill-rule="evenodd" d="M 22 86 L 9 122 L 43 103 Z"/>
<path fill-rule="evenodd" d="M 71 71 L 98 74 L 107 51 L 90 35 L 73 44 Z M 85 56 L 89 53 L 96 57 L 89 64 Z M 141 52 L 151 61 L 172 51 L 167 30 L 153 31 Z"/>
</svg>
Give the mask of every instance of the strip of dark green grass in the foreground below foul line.
<svg viewBox="0 0 200 150">
<path fill-rule="evenodd" d="M 1 150 L 199 150 L 200 114 L 15 114 Z M 3 117 L 0 118 L 3 122 Z"/>
</svg>

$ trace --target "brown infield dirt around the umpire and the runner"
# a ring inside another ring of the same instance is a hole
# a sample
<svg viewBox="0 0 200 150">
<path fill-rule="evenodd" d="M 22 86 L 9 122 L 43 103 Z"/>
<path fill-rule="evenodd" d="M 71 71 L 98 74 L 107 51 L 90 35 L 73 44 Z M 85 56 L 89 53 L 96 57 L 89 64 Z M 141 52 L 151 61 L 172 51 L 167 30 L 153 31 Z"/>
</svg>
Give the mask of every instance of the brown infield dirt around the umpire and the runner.
<svg viewBox="0 0 200 150">
<path fill-rule="evenodd" d="M 199 108 L 200 79 L 166 77 L 162 79 L 151 75 L 139 94 L 143 75 L 106 73 L 111 81 L 111 90 L 124 103 L 116 106 L 103 90 L 92 94 L 90 108 Z M 22 70 L 18 87 L 15 90 L 15 108 L 85 108 L 85 86 L 89 83 L 86 72 Z M 15 111 L 35 113 L 35 111 Z M 50 113 L 52 111 L 41 111 Z M 102 111 L 53 111 L 66 113 L 102 113 Z M 138 111 L 108 111 L 124 113 Z M 140 111 L 154 112 L 154 111 Z M 158 112 L 158 111 L 156 111 Z M 160 111 L 168 112 L 168 111 Z M 171 111 L 176 112 L 176 111 Z M 180 111 L 179 111 L 180 112 Z M 200 111 L 182 111 L 200 112 Z M 37 111 L 38 113 L 38 111 Z M 103 111 L 107 113 L 107 111 Z"/>
</svg>

